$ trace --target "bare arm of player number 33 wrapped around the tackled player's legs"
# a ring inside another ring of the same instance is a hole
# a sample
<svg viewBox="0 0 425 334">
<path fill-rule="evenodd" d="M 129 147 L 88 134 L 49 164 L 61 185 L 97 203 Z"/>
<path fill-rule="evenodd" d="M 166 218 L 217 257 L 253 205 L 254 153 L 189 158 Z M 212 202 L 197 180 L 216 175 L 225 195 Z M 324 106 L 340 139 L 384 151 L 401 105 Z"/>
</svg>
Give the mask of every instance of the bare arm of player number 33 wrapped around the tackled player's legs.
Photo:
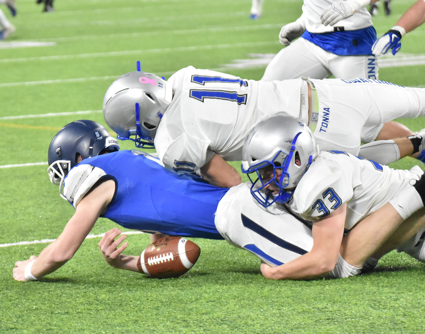
<svg viewBox="0 0 425 334">
<path fill-rule="evenodd" d="M 308 280 L 334 269 L 343 238 L 346 204 L 313 224 L 312 250 L 277 267 L 261 264 L 261 273 L 275 280 Z"/>
</svg>

